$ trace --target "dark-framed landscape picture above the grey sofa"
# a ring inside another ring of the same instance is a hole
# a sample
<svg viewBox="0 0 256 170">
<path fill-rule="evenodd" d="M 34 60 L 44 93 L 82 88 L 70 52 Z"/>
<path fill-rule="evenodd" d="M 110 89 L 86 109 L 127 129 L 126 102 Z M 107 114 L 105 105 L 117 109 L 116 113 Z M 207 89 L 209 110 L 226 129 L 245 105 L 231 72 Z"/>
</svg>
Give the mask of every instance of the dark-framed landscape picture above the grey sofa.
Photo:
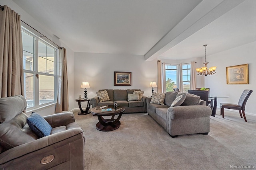
<svg viewBox="0 0 256 170">
<path fill-rule="evenodd" d="M 114 72 L 114 86 L 132 86 L 132 72 Z"/>
</svg>

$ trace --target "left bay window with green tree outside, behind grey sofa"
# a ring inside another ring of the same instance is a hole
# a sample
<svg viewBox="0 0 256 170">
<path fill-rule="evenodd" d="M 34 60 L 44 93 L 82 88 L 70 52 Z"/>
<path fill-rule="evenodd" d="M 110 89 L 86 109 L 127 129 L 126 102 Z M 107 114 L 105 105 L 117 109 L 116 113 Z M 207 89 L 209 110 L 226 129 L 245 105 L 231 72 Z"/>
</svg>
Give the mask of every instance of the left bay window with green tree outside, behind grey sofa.
<svg viewBox="0 0 256 170">
<path fill-rule="evenodd" d="M 166 77 L 166 92 L 172 92 L 173 88 L 177 88 L 178 65 L 166 64 L 165 77 Z"/>
</svg>

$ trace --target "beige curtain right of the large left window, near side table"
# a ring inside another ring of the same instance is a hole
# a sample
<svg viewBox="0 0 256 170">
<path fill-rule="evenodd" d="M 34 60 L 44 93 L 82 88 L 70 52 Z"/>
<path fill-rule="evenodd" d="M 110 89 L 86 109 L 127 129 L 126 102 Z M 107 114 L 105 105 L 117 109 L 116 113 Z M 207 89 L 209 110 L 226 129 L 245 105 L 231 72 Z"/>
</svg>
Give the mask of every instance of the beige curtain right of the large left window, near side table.
<svg viewBox="0 0 256 170">
<path fill-rule="evenodd" d="M 58 96 L 55 113 L 68 111 L 68 72 L 67 72 L 67 56 L 66 49 L 59 48 L 59 81 L 58 81 Z"/>
</svg>

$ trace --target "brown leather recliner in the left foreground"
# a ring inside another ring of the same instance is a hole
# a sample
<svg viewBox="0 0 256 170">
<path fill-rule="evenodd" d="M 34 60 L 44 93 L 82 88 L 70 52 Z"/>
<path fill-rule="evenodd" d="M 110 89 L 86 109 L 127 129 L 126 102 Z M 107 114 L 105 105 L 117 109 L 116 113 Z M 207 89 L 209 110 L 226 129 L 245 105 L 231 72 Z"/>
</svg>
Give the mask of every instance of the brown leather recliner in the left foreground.
<svg viewBox="0 0 256 170">
<path fill-rule="evenodd" d="M 39 138 L 27 124 L 26 99 L 0 98 L 0 169 L 84 169 L 84 134 L 73 113 L 45 116 L 50 135 Z"/>
</svg>

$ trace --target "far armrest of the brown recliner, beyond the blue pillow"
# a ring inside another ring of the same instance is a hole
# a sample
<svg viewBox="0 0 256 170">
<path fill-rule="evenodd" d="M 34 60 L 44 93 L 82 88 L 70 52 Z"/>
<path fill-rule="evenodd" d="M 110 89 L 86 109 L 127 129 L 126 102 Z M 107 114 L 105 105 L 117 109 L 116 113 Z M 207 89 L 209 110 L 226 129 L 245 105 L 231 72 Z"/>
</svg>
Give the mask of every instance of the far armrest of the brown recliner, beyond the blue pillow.
<svg viewBox="0 0 256 170">
<path fill-rule="evenodd" d="M 44 119 L 52 126 L 52 128 L 66 126 L 69 123 L 75 122 L 74 113 L 72 112 L 56 113 L 44 116 Z"/>
</svg>

